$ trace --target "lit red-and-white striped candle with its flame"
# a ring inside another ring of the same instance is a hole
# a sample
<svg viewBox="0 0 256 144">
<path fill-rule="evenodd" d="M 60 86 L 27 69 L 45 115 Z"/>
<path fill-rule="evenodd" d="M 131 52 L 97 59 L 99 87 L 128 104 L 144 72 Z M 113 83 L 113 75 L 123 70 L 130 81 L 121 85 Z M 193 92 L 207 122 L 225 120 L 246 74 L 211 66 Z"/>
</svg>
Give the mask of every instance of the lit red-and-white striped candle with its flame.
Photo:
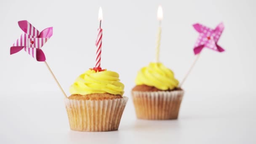
<svg viewBox="0 0 256 144">
<path fill-rule="evenodd" d="M 101 44 L 102 44 L 102 29 L 101 29 L 101 21 L 102 21 L 102 9 L 99 7 L 99 29 L 98 29 L 98 36 L 96 40 L 96 65 L 95 68 L 101 70 Z"/>
</svg>

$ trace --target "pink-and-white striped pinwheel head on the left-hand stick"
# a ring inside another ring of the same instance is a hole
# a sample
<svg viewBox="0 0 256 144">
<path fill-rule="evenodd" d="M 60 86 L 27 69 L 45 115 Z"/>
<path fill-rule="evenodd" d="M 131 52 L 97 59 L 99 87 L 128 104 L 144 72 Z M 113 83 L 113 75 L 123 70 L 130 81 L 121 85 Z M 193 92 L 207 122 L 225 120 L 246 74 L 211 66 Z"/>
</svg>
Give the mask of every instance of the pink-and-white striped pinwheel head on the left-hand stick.
<svg viewBox="0 0 256 144">
<path fill-rule="evenodd" d="M 45 54 L 41 48 L 53 35 L 53 27 L 48 27 L 42 32 L 39 32 L 28 21 L 19 21 L 18 24 L 25 33 L 22 34 L 15 43 L 13 43 L 10 53 L 17 53 L 24 48 L 24 51 L 37 61 L 45 61 Z"/>
</svg>

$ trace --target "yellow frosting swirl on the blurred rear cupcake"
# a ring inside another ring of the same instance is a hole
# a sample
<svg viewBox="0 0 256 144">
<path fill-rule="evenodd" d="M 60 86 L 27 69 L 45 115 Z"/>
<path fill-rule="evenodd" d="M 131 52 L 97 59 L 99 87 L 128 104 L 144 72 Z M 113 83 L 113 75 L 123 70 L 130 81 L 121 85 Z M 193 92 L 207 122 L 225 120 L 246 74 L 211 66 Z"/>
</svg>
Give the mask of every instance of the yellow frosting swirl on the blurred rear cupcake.
<svg viewBox="0 0 256 144">
<path fill-rule="evenodd" d="M 154 86 L 160 90 L 172 90 L 179 85 L 174 78 L 173 71 L 162 63 L 150 63 L 138 72 L 135 80 L 136 85 Z"/>
</svg>

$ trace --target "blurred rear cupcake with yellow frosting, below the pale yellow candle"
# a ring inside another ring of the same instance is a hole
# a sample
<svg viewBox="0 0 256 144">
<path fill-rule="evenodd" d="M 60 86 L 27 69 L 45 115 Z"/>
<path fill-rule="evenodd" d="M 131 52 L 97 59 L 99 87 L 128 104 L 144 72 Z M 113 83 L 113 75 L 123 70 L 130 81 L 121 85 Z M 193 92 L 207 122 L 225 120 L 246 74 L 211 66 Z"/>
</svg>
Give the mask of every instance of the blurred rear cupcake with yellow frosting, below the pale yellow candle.
<svg viewBox="0 0 256 144">
<path fill-rule="evenodd" d="M 173 71 L 162 63 L 150 63 L 138 72 L 132 99 L 136 116 L 147 120 L 177 119 L 184 91 Z"/>
</svg>

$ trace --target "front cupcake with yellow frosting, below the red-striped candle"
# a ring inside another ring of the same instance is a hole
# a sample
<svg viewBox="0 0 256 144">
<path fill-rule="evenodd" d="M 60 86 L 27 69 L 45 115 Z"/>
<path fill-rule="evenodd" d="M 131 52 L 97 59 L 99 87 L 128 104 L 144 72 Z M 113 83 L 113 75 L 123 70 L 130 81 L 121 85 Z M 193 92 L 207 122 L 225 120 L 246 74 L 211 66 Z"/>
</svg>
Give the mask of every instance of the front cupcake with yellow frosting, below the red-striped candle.
<svg viewBox="0 0 256 144">
<path fill-rule="evenodd" d="M 89 69 L 70 87 L 65 99 L 73 131 L 116 131 L 128 98 L 124 85 L 112 71 Z"/>
</svg>

